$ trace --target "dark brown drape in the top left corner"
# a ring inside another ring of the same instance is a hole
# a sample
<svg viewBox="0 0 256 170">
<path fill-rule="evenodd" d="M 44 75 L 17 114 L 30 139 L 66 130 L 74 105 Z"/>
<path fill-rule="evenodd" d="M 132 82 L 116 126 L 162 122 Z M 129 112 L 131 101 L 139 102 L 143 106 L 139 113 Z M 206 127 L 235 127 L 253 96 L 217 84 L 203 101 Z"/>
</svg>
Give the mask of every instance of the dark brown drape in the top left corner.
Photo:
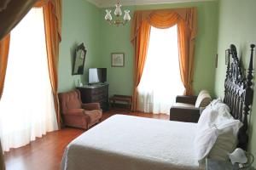
<svg viewBox="0 0 256 170">
<path fill-rule="evenodd" d="M 38 0 L 1 0 L 0 40 L 5 37 Z"/>
</svg>

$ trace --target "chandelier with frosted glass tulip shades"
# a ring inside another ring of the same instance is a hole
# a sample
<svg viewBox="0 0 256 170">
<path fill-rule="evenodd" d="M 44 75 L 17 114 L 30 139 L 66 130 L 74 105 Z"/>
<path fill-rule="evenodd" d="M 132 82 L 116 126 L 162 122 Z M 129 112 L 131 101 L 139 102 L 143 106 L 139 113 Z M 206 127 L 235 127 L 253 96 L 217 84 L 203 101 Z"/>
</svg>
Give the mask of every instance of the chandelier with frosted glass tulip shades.
<svg viewBox="0 0 256 170">
<path fill-rule="evenodd" d="M 121 4 L 118 1 L 117 4 L 115 4 L 115 10 L 113 12 L 113 14 L 116 16 L 115 20 L 112 20 L 112 15 L 111 15 L 111 10 L 110 9 L 106 9 L 106 16 L 105 16 L 105 20 L 108 21 L 109 24 L 111 25 L 116 25 L 119 26 L 120 24 L 122 24 L 123 26 L 125 26 L 125 24 L 131 20 L 131 16 L 130 16 L 130 10 L 125 9 L 125 14 L 124 14 L 124 20 L 121 19 L 122 16 L 122 10 L 121 10 Z"/>
</svg>

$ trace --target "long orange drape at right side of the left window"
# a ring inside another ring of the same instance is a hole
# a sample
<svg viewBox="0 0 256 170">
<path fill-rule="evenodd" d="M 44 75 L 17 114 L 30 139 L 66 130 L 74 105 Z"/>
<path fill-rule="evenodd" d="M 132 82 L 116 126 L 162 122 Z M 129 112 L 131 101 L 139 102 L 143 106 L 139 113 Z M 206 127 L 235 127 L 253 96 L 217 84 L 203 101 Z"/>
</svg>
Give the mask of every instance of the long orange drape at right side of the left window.
<svg viewBox="0 0 256 170">
<path fill-rule="evenodd" d="M 44 5 L 44 26 L 49 66 L 49 78 L 55 99 L 55 112 L 59 128 L 61 114 L 58 99 L 58 62 L 61 42 L 61 0 L 52 0 Z"/>
</svg>

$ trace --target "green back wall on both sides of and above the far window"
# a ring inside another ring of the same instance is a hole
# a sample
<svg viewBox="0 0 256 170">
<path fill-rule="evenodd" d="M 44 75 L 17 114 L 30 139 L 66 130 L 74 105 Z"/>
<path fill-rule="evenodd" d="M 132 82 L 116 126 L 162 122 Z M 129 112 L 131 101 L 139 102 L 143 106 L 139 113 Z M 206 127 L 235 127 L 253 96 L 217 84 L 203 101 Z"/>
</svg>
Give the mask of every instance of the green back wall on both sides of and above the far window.
<svg viewBox="0 0 256 170">
<path fill-rule="evenodd" d="M 214 92 L 215 55 L 218 35 L 218 2 L 171 3 L 123 7 L 131 10 L 197 7 L 198 34 L 195 45 L 195 94 L 202 88 Z M 109 26 L 104 20 L 105 8 L 101 9 L 101 56 L 102 67 L 108 68 L 109 94 L 132 94 L 133 47 L 130 42 L 131 22 L 126 26 Z M 125 53 L 125 67 L 111 67 L 110 55 L 113 52 Z"/>
</svg>

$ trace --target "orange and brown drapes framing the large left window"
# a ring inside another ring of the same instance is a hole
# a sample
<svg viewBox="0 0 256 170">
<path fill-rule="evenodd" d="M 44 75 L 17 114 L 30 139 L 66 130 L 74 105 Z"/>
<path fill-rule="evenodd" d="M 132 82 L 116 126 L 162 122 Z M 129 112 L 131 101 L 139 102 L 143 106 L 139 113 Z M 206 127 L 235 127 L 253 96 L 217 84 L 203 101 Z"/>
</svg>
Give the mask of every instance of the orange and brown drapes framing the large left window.
<svg viewBox="0 0 256 170">
<path fill-rule="evenodd" d="M 17 3 L 18 2 L 18 3 Z M 59 127 L 61 126 L 61 116 L 59 111 L 59 101 L 57 96 L 58 90 L 58 60 L 59 60 L 59 43 L 61 42 L 61 0 L 11 0 L 7 8 L 0 11 L 0 39 L 9 32 L 26 13 L 34 7 L 44 8 L 44 26 L 46 47 L 49 65 L 49 77 L 52 91 L 55 98 L 55 112 Z M 3 5 L 4 7 L 4 5 Z M 4 28 L 4 29 L 3 29 Z M 2 50 L 1 50 L 2 51 Z M 3 51 L 4 52 L 4 51 Z M 2 53 L 2 52 L 1 52 Z M 8 54 L 7 54 L 8 55 Z M 7 65 L 7 55 L 1 56 L 1 77 L 0 77 L 0 94 L 3 93 L 2 84 L 5 76 Z M 5 65 L 6 63 L 6 65 Z M 5 65 L 5 66 L 4 66 Z"/>
</svg>

